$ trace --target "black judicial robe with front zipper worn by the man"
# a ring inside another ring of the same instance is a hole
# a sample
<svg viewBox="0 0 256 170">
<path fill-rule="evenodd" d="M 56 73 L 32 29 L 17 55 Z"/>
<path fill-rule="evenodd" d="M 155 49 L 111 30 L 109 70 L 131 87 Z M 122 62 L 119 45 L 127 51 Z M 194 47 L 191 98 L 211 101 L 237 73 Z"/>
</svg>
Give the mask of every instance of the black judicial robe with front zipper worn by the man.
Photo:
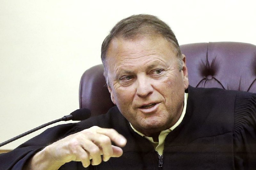
<svg viewBox="0 0 256 170">
<path fill-rule="evenodd" d="M 49 128 L 1 154 L 0 169 L 22 169 L 48 144 L 95 125 L 114 128 L 127 138 L 123 155 L 88 168 L 71 161 L 60 169 L 256 169 L 256 94 L 190 86 L 185 117 L 165 139 L 162 167 L 152 144 L 131 129 L 115 106 L 107 114 Z"/>
</svg>

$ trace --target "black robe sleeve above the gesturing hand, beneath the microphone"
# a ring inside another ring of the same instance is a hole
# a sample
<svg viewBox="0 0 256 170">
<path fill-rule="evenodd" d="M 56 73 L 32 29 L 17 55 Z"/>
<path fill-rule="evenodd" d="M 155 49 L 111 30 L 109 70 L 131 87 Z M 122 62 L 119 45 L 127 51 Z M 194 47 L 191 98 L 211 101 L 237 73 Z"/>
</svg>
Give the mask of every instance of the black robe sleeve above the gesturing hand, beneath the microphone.
<svg viewBox="0 0 256 170">
<path fill-rule="evenodd" d="M 13 151 L 0 154 L 0 169 L 21 170 L 36 152 L 65 137 L 75 126 L 75 123 L 69 123 L 46 129 L 43 133 L 21 144 Z"/>
</svg>

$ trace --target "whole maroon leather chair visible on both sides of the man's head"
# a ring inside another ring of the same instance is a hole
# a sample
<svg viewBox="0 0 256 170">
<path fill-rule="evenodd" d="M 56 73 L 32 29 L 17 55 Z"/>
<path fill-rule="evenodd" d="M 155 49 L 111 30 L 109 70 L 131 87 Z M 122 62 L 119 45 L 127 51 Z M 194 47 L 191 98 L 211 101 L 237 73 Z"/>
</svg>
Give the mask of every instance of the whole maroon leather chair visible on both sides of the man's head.
<svg viewBox="0 0 256 170">
<path fill-rule="evenodd" d="M 180 46 L 185 54 L 189 84 L 256 93 L 256 46 L 248 43 L 193 43 Z M 80 108 L 92 116 L 104 114 L 114 104 L 103 76 L 103 65 L 86 70 L 80 81 Z"/>
</svg>

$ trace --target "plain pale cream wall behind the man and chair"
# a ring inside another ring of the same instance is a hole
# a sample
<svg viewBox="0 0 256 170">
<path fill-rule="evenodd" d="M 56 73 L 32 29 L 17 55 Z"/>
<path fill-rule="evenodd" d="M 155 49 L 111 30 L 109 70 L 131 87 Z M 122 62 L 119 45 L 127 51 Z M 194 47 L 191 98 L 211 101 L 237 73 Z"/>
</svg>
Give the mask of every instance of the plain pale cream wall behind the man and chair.
<svg viewBox="0 0 256 170">
<path fill-rule="evenodd" d="M 79 107 L 80 77 L 100 64 L 101 43 L 118 20 L 156 15 L 180 44 L 256 44 L 254 2 L 1 0 L 0 143 Z M 13 149 L 38 133 L 0 149 Z"/>
</svg>

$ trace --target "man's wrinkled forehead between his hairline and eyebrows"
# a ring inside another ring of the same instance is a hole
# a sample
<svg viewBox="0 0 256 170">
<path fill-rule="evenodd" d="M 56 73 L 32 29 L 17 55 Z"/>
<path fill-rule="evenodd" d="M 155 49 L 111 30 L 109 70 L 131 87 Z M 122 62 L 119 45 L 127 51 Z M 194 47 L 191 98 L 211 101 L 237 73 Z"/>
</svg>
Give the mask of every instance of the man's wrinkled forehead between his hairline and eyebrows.
<svg viewBox="0 0 256 170">
<path fill-rule="evenodd" d="M 107 57 L 108 64 L 127 59 L 171 58 L 176 56 L 172 43 L 162 36 L 143 36 L 134 39 L 113 38 L 109 44 Z"/>
</svg>

